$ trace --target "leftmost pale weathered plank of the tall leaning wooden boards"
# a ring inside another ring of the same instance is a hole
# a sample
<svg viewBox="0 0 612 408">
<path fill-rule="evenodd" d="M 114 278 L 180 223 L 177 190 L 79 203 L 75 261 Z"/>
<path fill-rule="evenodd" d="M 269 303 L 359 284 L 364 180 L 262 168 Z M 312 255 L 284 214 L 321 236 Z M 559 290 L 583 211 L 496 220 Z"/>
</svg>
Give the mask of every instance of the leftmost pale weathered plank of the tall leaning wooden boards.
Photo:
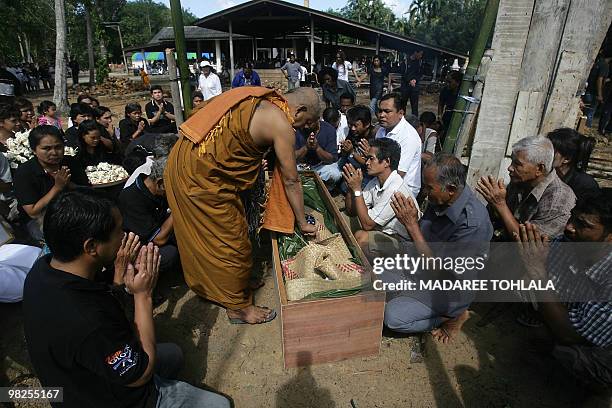
<svg viewBox="0 0 612 408">
<path fill-rule="evenodd" d="M 501 0 L 495 24 L 493 60 L 487 72 L 478 126 L 468 166 L 468 184 L 498 174 L 504 158 L 520 84 L 523 51 L 534 0 Z"/>
</svg>

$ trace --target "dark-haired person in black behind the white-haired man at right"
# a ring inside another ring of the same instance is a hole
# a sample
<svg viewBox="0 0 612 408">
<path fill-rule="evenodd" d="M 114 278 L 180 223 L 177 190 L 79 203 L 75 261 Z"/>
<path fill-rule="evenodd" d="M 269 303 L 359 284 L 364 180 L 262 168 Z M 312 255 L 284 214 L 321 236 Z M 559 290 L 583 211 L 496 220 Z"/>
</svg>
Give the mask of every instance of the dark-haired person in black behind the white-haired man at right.
<svg viewBox="0 0 612 408">
<path fill-rule="evenodd" d="M 597 196 L 599 185 L 586 174 L 595 139 L 570 128 L 556 129 L 546 136 L 555 148 L 553 168 L 559 178 L 572 188 L 577 199 Z"/>
</svg>

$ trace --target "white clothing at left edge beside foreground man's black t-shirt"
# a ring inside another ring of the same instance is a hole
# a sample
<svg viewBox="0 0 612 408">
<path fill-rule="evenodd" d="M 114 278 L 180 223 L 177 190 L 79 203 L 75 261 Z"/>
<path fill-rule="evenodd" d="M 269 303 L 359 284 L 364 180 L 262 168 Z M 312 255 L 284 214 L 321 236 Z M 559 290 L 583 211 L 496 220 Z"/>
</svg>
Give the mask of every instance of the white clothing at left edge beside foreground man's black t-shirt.
<svg viewBox="0 0 612 408">
<path fill-rule="evenodd" d="M 29 245 L 0 246 L 0 303 L 21 302 L 23 283 L 41 249 Z"/>
</svg>

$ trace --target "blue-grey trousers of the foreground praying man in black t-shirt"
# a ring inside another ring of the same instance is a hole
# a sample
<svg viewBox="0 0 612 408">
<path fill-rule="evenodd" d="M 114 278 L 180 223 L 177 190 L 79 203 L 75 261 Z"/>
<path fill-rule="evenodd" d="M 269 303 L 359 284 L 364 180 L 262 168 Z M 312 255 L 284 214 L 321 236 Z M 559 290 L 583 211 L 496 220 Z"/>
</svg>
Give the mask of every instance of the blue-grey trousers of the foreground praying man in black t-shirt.
<svg viewBox="0 0 612 408">
<path fill-rule="evenodd" d="M 159 396 L 157 408 L 229 408 L 227 398 L 211 391 L 196 388 L 175 378 L 183 366 L 183 352 L 174 343 L 157 344 L 155 388 Z"/>
</svg>

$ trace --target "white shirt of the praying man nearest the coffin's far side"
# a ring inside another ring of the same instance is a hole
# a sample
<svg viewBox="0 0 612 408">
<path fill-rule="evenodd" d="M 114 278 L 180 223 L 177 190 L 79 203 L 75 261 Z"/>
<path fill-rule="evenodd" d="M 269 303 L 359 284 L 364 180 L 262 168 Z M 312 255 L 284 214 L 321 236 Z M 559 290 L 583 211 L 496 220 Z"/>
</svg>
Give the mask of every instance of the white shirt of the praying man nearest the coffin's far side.
<svg viewBox="0 0 612 408">
<path fill-rule="evenodd" d="M 418 208 L 412 191 L 404 183 L 402 176 L 395 170 L 391 172 L 382 186 L 378 181 L 378 177 L 370 180 L 363 189 L 362 195 L 368 207 L 368 216 L 380 227 L 382 232 L 389 235 L 399 234 L 409 240 L 410 235 L 408 235 L 406 228 L 399 222 L 393 208 L 391 208 L 391 197 L 396 192 L 400 192 L 409 199 L 412 199 Z"/>
</svg>

